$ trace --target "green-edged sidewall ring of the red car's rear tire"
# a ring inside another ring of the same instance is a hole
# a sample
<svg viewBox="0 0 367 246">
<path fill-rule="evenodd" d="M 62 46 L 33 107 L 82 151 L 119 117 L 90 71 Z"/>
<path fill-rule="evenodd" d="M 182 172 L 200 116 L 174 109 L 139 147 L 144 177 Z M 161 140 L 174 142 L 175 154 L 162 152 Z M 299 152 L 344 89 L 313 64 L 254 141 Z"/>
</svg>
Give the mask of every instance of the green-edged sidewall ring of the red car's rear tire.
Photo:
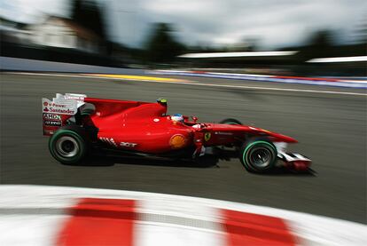
<svg viewBox="0 0 367 246">
<path fill-rule="evenodd" d="M 80 151 L 74 157 L 70 157 L 70 158 L 62 157 L 59 154 L 57 154 L 56 151 L 54 150 L 53 145 L 54 145 L 55 141 L 58 139 L 59 135 L 61 135 L 61 134 L 63 134 L 63 135 L 72 135 L 77 140 L 77 142 L 79 144 L 79 147 L 80 147 Z M 55 134 L 53 134 L 51 136 L 51 139 L 49 141 L 49 149 L 50 149 L 51 155 L 53 155 L 58 161 L 73 163 L 73 162 L 78 161 L 80 158 L 82 158 L 82 155 L 84 155 L 85 142 L 84 142 L 84 139 L 82 139 L 82 137 L 74 131 L 59 130 L 59 131 L 56 131 Z"/>
</svg>

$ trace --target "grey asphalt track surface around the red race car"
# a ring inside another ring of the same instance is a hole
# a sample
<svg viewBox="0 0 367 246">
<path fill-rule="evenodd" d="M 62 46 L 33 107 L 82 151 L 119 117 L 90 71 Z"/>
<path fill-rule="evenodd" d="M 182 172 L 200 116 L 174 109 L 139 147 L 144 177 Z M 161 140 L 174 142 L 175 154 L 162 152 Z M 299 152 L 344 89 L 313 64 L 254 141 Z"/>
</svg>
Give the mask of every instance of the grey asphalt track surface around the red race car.
<svg viewBox="0 0 367 246">
<path fill-rule="evenodd" d="M 1 184 L 125 189 L 246 202 L 366 223 L 366 91 L 332 87 L 185 78 L 196 83 L 293 88 L 272 91 L 42 75 L 0 74 Z M 297 90 L 311 91 L 297 91 Z M 330 94 L 339 91 L 358 94 Z M 314 174 L 256 175 L 238 159 L 197 166 L 179 161 L 96 157 L 82 166 L 57 163 L 42 136 L 41 98 L 56 92 L 154 101 L 168 113 L 202 122 L 238 118 L 300 141 L 291 150 L 314 161 Z"/>
</svg>

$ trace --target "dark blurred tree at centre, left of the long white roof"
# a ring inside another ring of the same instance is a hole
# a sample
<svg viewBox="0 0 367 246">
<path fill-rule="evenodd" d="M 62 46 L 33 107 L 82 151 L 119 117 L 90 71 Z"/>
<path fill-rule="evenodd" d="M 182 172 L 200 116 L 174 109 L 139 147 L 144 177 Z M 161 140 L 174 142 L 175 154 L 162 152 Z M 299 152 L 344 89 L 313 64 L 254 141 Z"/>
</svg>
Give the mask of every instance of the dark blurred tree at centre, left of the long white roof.
<svg viewBox="0 0 367 246">
<path fill-rule="evenodd" d="M 152 35 L 145 45 L 145 58 L 150 62 L 165 63 L 175 60 L 184 52 L 183 44 L 172 36 L 172 28 L 167 23 L 153 25 Z"/>
</svg>

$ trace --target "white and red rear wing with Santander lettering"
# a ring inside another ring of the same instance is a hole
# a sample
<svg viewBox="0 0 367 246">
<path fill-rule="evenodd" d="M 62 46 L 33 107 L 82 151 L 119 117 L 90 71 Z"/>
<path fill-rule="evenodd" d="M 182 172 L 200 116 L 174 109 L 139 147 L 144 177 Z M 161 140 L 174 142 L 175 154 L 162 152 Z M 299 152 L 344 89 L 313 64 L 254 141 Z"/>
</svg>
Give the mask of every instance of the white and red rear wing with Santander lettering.
<svg viewBox="0 0 367 246">
<path fill-rule="evenodd" d="M 76 115 L 78 108 L 84 105 L 87 95 L 57 93 L 51 99 L 42 99 L 43 135 L 51 136 L 59 127 L 66 125 L 66 121 Z"/>
</svg>

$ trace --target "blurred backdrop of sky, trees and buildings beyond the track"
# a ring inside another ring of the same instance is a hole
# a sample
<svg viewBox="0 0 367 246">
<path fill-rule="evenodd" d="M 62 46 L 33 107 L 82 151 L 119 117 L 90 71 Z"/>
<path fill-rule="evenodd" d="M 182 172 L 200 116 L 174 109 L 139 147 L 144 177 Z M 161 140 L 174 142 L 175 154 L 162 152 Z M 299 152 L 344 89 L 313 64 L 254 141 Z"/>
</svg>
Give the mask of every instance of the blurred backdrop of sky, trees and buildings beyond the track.
<svg viewBox="0 0 367 246">
<path fill-rule="evenodd" d="M 0 11 L 6 57 L 267 75 L 367 74 L 364 0 L 1 0 Z"/>
</svg>

